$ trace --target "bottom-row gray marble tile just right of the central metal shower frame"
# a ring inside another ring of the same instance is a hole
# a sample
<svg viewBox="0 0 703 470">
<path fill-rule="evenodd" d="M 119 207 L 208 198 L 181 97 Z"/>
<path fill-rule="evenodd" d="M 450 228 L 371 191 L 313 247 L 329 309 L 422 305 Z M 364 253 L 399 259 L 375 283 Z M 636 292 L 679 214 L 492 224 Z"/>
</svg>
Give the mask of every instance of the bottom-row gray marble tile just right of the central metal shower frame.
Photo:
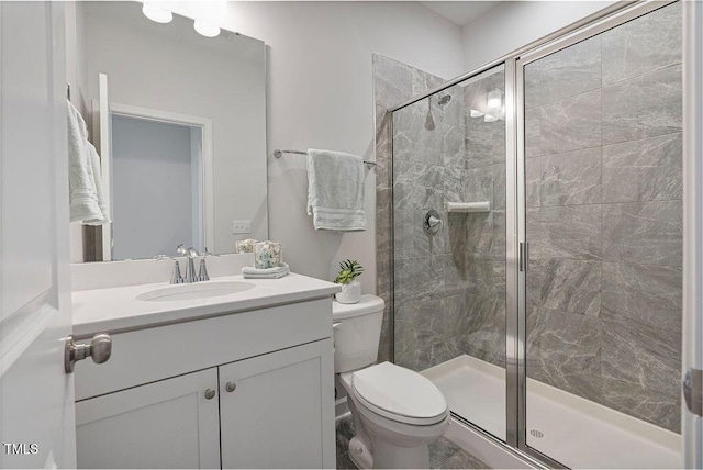
<svg viewBox="0 0 703 470">
<path fill-rule="evenodd" d="M 601 395 L 602 322 L 583 315 L 540 309 L 535 332 L 539 357 L 528 377 L 588 400 Z"/>
</svg>

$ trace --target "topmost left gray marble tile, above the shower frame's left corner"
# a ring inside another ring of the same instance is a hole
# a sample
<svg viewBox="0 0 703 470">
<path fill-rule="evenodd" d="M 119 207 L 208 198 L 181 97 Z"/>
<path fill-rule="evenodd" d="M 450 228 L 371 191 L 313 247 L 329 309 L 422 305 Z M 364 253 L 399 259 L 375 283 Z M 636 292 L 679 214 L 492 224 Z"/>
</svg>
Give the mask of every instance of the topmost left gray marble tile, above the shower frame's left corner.
<svg viewBox="0 0 703 470">
<path fill-rule="evenodd" d="M 373 96 L 376 104 L 391 108 L 412 97 L 411 67 L 373 54 Z"/>
</svg>

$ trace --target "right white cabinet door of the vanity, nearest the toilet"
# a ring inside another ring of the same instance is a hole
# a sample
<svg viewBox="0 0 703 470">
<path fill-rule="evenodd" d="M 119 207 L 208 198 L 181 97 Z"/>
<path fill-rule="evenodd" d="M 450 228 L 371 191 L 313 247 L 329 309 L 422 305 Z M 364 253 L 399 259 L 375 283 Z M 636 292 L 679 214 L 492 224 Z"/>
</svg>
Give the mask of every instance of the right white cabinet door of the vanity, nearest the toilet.
<svg viewBox="0 0 703 470">
<path fill-rule="evenodd" d="M 223 468 L 335 467 L 332 339 L 221 366 L 220 396 Z"/>
</svg>

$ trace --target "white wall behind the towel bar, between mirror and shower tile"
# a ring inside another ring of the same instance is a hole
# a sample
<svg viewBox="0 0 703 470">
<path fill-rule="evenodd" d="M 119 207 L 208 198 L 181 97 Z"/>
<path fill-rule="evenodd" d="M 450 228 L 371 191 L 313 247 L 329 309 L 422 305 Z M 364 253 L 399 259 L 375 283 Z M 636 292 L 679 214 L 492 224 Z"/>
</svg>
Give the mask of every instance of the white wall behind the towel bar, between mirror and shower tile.
<svg viewBox="0 0 703 470">
<path fill-rule="evenodd" d="M 189 14 L 187 5 L 175 11 Z M 305 158 L 275 148 L 328 148 L 375 158 L 371 54 L 431 74 L 462 72 L 461 29 L 419 2 L 232 2 L 221 26 L 268 46 L 269 236 L 297 272 L 334 279 L 338 261 L 358 259 L 376 292 L 376 180 L 366 178 L 366 232 L 315 232 L 305 214 Z"/>
</svg>

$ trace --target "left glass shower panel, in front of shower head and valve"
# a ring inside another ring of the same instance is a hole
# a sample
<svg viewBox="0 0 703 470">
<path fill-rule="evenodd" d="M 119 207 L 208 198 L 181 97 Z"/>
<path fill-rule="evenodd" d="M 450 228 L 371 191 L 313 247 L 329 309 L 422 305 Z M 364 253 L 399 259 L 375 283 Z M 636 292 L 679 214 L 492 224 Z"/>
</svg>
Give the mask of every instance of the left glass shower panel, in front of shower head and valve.
<svg viewBox="0 0 703 470">
<path fill-rule="evenodd" d="M 393 111 L 392 199 L 394 361 L 502 440 L 504 105 L 499 66 Z"/>
</svg>

